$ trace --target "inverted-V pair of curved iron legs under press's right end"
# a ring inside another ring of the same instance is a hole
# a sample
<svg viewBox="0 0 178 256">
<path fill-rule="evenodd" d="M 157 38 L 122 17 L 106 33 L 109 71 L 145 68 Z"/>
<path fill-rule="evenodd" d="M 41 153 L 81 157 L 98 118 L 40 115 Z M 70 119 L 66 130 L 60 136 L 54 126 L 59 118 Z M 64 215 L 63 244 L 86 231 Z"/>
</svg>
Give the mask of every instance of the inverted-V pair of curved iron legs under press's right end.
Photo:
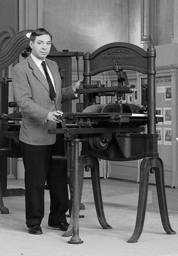
<svg viewBox="0 0 178 256">
<path fill-rule="evenodd" d="M 155 181 L 157 186 L 157 195 L 159 203 L 159 211 L 161 214 L 161 220 L 163 228 L 167 234 L 173 235 L 176 232 L 173 231 L 168 218 L 166 191 L 164 186 L 164 168 L 161 158 L 145 158 L 140 165 L 140 188 L 139 188 L 139 203 L 137 209 L 137 218 L 135 224 L 135 231 L 128 242 L 137 242 L 143 231 L 146 202 L 148 197 L 148 185 L 149 185 L 149 171 L 155 170 Z"/>
</svg>

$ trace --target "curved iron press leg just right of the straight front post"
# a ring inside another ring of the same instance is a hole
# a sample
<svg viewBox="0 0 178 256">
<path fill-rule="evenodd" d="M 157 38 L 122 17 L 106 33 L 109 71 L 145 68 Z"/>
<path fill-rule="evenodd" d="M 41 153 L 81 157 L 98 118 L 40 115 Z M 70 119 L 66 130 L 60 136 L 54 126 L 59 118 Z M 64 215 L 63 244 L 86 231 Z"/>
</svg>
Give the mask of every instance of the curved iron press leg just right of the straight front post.
<svg viewBox="0 0 178 256">
<path fill-rule="evenodd" d="M 101 195 L 101 184 L 100 184 L 99 160 L 96 157 L 92 157 L 92 156 L 90 156 L 90 160 L 92 162 L 91 179 L 92 179 L 92 187 L 94 192 L 97 218 L 99 220 L 101 227 L 103 227 L 104 229 L 110 229 L 112 227 L 106 222 L 104 209 L 103 209 L 103 200 Z"/>
</svg>

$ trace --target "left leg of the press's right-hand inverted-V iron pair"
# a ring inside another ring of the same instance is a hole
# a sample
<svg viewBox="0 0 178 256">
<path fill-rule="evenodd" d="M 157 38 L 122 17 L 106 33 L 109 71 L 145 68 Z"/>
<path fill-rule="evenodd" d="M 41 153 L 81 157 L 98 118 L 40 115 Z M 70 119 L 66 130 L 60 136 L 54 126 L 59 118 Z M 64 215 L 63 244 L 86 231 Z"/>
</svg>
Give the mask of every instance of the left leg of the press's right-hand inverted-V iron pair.
<svg viewBox="0 0 178 256">
<path fill-rule="evenodd" d="M 146 212 L 146 202 L 148 198 L 149 170 L 150 167 L 152 167 L 150 164 L 150 158 L 144 158 L 140 165 L 139 202 L 137 208 L 136 224 L 133 235 L 128 240 L 128 242 L 137 242 L 143 231 Z"/>
</svg>

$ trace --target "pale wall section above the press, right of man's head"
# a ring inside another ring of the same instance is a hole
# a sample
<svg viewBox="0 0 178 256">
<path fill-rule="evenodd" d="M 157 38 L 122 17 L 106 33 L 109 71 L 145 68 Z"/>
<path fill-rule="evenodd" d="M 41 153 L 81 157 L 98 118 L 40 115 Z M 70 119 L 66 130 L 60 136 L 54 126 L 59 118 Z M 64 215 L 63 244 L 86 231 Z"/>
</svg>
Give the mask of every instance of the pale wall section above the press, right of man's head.
<svg viewBox="0 0 178 256">
<path fill-rule="evenodd" d="M 127 1 L 44 0 L 43 25 L 57 50 L 93 52 L 110 42 L 127 41 Z"/>
</svg>

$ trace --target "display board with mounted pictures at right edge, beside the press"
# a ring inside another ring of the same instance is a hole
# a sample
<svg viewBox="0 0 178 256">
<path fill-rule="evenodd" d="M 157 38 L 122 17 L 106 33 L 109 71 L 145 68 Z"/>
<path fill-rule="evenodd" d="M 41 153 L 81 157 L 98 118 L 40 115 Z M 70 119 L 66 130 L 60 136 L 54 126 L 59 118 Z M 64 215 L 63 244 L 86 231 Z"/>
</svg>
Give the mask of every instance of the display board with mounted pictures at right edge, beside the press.
<svg viewBox="0 0 178 256">
<path fill-rule="evenodd" d="M 165 183 L 177 188 L 177 67 L 162 67 L 157 70 L 156 113 L 164 121 L 156 126 L 158 152 L 164 163 Z"/>
</svg>

